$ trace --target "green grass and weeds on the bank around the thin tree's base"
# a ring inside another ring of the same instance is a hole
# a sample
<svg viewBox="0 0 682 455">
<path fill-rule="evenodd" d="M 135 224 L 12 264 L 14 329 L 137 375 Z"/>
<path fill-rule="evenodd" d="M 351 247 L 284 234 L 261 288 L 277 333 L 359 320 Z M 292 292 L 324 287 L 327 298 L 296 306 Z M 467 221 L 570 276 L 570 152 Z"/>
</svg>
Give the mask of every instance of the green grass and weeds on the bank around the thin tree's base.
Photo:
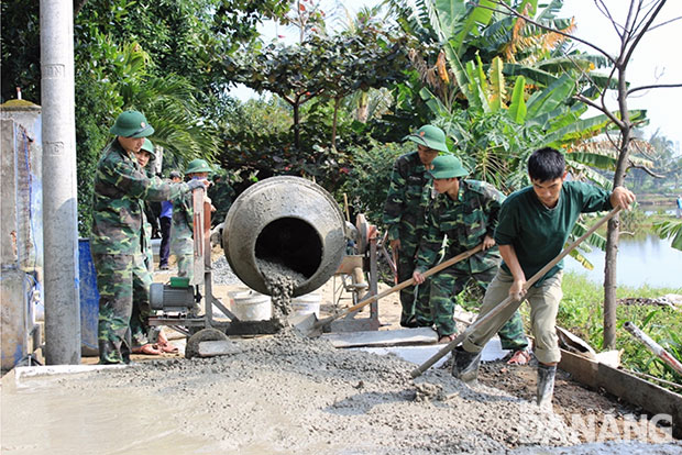
<svg viewBox="0 0 682 455">
<path fill-rule="evenodd" d="M 563 278 L 563 299 L 559 306 L 557 324 L 585 340 L 593 347 L 603 344 L 603 290 L 586 277 L 568 273 Z M 682 289 L 653 289 L 642 287 L 631 289 L 618 287 L 617 298 L 658 298 L 666 293 L 682 293 Z M 623 324 L 631 321 L 653 341 L 670 349 L 676 358 L 682 358 L 680 329 L 682 313 L 669 308 L 651 306 L 619 304 L 617 308 L 616 348 L 624 349 L 622 362 L 627 368 L 646 373 L 666 380 L 682 384 L 682 375 L 674 373 L 654 354 L 635 340 Z"/>
</svg>

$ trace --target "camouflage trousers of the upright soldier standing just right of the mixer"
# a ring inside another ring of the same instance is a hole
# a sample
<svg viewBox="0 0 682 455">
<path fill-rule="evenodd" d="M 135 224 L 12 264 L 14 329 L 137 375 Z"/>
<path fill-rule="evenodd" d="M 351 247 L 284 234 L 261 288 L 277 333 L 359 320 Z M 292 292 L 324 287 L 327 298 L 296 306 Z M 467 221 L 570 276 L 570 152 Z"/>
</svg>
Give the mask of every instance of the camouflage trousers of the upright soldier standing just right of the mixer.
<svg viewBox="0 0 682 455">
<path fill-rule="evenodd" d="M 406 281 L 413 277 L 417 259 L 417 243 L 400 238 L 400 251 L 398 252 L 398 282 Z M 429 279 L 419 286 L 409 286 L 400 291 L 400 325 L 404 328 L 430 326 L 432 322 L 420 321 L 417 313 L 425 313 L 429 308 Z"/>
</svg>

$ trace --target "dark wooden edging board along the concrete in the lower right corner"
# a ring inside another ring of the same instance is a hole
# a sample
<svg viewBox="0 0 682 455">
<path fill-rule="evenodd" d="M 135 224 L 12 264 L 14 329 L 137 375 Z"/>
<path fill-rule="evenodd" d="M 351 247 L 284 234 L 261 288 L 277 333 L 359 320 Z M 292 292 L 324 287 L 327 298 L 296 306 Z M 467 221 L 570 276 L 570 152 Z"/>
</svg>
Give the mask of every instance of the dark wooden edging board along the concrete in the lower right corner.
<svg viewBox="0 0 682 455">
<path fill-rule="evenodd" d="M 598 385 L 616 397 L 651 414 L 672 417 L 673 436 L 682 439 L 682 396 L 622 369 L 598 364 Z"/>
</svg>

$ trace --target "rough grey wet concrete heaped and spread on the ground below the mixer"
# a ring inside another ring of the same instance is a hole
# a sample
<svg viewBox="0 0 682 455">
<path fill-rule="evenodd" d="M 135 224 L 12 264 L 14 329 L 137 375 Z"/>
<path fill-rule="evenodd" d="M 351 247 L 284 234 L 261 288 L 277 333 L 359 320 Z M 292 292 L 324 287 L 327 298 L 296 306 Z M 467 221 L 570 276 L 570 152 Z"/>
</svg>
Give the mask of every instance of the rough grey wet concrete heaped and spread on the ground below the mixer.
<svg viewBox="0 0 682 455">
<path fill-rule="evenodd" d="M 187 434 L 243 453 L 505 453 L 578 442 L 553 414 L 496 389 L 469 389 L 446 370 L 411 379 L 414 365 L 393 355 L 289 331 L 239 343 L 235 355 L 155 360 L 68 387 L 162 396 L 178 403 L 168 415 Z"/>
</svg>

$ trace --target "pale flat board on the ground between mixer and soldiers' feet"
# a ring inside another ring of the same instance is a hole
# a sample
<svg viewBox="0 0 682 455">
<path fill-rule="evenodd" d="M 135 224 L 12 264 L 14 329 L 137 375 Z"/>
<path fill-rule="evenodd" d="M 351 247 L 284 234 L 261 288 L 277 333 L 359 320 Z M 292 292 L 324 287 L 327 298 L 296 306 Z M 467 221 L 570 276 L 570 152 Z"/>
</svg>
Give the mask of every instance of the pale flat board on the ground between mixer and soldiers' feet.
<svg viewBox="0 0 682 455">
<path fill-rule="evenodd" d="M 405 346 L 438 342 L 438 334 L 429 328 L 324 333 L 321 337 L 329 340 L 334 347 Z"/>
</svg>

